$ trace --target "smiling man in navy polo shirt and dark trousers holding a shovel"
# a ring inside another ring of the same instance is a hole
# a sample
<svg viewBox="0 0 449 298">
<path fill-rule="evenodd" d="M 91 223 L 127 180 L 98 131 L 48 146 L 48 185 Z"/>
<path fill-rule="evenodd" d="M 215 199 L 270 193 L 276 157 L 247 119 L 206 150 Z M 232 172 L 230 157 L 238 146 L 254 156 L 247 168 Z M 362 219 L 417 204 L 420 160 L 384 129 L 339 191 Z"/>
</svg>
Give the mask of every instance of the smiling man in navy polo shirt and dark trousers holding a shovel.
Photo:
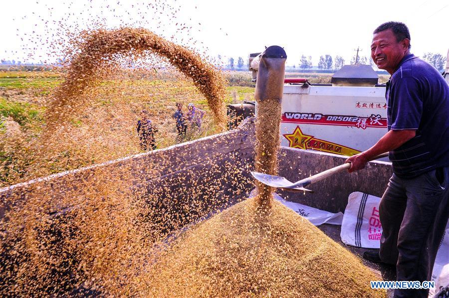
<svg viewBox="0 0 449 298">
<path fill-rule="evenodd" d="M 449 216 L 449 86 L 430 64 L 410 53 L 400 22 L 374 31 L 371 57 L 391 74 L 387 83 L 388 133 L 351 156 L 350 172 L 390 152 L 393 175 L 380 202 L 380 251 L 364 258 L 396 265 L 398 281 L 430 281 Z M 427 297 L 429 290 L 395 290 L 395 297 Z"/>
</svg>

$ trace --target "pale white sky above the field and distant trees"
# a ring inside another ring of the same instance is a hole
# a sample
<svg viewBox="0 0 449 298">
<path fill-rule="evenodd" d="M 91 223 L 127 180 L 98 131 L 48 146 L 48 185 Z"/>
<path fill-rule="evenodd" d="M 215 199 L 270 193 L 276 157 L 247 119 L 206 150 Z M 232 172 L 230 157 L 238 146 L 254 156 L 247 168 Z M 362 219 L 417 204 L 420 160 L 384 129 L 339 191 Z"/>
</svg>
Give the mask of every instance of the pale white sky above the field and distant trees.
<svg viewBox="0 0 449 298">
<path fill-rule="evenodd" d="M 93 27 L 99 18 L 108 28 L 144 26 L 209 56 L 241 56 L 246 61 L 249 53 L 280 45 L 287 65 L 298 65 L 303 54 L 312 56 L 315 66 L 325 54 L 343 56 L 349 63 L 357 47 L 369 56 L 373 30 L 389 20 L 409 26 L 412 52 L 418 56 L 434 52 L 446 57 L 449 49 L 448 0 L 3 0 L 0 5 L 0 58 L 16 61 L 24 61 L 25 53 L 32 53 L 34 61 L 47 59 L 44 40 L 61 28 Z M 40 36 L 42 40 L 36 38 Z"/>
</svg>

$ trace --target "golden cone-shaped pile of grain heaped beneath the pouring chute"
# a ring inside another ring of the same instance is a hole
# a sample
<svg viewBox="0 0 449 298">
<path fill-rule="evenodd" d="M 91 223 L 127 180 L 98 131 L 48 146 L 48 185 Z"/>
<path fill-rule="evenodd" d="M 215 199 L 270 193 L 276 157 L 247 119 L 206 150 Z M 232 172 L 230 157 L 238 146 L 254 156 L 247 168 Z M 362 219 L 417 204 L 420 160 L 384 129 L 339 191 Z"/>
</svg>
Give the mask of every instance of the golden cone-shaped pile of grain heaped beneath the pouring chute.
<svg viewBox="0 0 449 298">
<path fill-rule="evenodd" d="M 205 221 L 158 257 L 139 291 L 153 297 L 385 297 L 379 280 L 277 201 L 260 217 L 248 199 Z"/>
</svg>

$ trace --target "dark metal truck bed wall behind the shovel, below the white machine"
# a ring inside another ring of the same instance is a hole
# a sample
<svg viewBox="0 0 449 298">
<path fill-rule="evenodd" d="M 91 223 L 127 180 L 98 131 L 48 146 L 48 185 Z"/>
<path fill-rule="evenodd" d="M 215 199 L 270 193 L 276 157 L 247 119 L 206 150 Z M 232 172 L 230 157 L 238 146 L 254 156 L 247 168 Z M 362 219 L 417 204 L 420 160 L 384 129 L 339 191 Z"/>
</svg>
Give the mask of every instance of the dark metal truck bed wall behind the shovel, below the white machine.
<svg viewBox="0 0 449 298">
<path fill-rule="evenodd" d="M 282 147 L 279 154 L 279 175 L 295 182 L 344 163 L 347 156 L 312 150 Z M 344 212 L 351 192 L 361 191 L 382 197 L 392 175 L 390 162 L 371 161 L 357 172 L 337 173 L 306 186 L 314 192 L 277 191 L 286 200 L 330 212 Z"/>
</svg>

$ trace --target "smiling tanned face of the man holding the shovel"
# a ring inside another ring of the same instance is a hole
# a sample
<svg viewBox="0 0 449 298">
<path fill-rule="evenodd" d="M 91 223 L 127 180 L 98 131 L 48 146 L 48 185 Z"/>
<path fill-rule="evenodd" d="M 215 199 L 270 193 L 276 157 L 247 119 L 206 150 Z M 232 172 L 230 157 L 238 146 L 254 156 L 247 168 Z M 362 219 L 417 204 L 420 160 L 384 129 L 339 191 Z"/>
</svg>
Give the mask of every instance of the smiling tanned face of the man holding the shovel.
<svg viewBox="0 0 449 298">
<path fill-rule="evenodd" d="M 378 68 L 393 74 L 399 62 L 408 54 L 409 44 L 409 39 L 398 42 L 391 29 L 378 32 L 371 43 L 371 58 Z"/>
</svg>

